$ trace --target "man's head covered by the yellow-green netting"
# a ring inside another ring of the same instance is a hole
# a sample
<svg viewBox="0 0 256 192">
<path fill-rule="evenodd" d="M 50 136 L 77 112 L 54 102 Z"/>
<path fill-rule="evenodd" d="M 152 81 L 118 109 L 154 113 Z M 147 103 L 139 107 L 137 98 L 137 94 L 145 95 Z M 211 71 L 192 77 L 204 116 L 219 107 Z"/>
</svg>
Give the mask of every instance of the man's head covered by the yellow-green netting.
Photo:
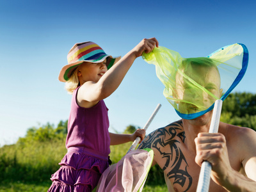
<svg viewBox="0 0 256 192">
<path fill-rule="evenodd" d="M 177 70 L 175 99 L 179 112 L 198 113 L 220 99 L 220 73 L 210 58 L 186 58 Z"/>
</svg>

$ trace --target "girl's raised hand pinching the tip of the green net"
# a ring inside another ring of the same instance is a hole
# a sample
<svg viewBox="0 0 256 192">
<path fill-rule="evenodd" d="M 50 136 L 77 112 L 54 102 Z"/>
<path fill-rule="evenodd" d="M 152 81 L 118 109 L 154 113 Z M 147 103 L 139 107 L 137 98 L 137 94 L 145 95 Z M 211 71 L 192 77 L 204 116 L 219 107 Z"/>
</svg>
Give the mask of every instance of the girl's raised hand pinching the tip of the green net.
<svg viewBox="0 0 256 192">
<path fill-rule="evenodd" d="M 136 45 L 136 47 L 132 49 L 132 52 L 134 52 L 136 58 L 138 58 L 143 54 L 143 52 L 148 53 L 153 51 L 155 46 L 158 47 L 158 41 L 156 38 L 144 38 L 140 44 Z"/>
</svg>

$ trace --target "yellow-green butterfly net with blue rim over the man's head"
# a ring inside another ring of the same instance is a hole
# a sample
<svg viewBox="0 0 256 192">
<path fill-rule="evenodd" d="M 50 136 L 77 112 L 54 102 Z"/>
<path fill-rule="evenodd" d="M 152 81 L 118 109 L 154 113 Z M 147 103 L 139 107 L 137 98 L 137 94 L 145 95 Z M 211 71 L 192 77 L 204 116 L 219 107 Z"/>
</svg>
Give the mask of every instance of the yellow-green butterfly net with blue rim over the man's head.
<svg viewBox="0 0 256 192">
<path fill-rule="evenodd" d="M 193 119 L 211 111 L 241 81 L 248 64 L 243 44 L 222 47 L 207 57 L 182 58 L 179 52 L 156 47 L 143 53 L 143 60 L 156 65 L 164 84 L 164 97 L 181 118 Z"/>
</svg>

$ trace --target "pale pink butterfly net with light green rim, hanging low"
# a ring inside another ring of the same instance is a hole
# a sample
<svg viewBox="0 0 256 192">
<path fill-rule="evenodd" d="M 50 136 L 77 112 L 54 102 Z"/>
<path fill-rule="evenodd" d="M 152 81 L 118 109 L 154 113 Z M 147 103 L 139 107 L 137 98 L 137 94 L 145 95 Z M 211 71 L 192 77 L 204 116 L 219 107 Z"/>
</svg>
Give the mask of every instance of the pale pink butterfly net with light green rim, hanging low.
<svg viewBox="0 0 256 192">
<path fill-rule="evenodd" d="M 153 161 L 149 148 L 128 152 L 118 163 L 111 164 L 102 173 L 96 191 L 142 191 Z"/>
</svg>

